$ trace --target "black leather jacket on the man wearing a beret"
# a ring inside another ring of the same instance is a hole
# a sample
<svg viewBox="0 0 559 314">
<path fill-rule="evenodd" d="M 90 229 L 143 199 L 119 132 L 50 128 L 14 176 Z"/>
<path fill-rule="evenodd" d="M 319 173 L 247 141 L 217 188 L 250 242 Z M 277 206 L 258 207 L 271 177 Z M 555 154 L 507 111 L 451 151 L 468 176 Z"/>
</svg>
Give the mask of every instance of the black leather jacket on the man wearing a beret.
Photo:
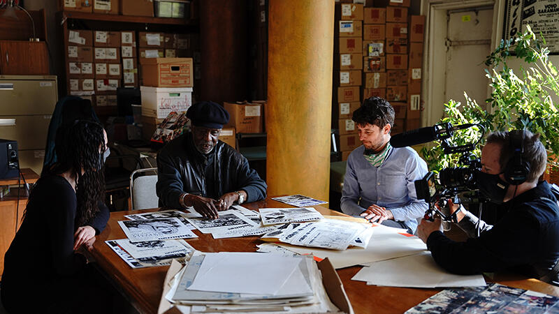
<svg viewBox="0 0 559 314">
<path fill-rule="evenodd" d="M 184 192 L 217 199 L 245 190 L 246 202 L 266 198 L 266 182 L 250 169 L 245 156 L 222 141 L 203 155 L 194 147 L 191 133 L 185 133 L 161 149 L 157 168 L 157 196 L 165 207 L 181 208 L 179 196 Z"/>
</svg>

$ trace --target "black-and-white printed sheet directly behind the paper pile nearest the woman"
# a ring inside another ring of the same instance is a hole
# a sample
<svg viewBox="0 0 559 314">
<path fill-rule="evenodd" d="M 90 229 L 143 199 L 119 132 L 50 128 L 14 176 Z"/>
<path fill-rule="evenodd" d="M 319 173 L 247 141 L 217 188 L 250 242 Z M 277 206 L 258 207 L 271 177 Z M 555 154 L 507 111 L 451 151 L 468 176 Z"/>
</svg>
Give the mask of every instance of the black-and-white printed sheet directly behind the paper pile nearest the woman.
<svg viewBox="0 0 559 314">
<path fill-rule="evenodd" d="M 121 220 L 118 223 L 131 242 L 198 237 L 182 221 L 175 217 Z"/>
</svg>

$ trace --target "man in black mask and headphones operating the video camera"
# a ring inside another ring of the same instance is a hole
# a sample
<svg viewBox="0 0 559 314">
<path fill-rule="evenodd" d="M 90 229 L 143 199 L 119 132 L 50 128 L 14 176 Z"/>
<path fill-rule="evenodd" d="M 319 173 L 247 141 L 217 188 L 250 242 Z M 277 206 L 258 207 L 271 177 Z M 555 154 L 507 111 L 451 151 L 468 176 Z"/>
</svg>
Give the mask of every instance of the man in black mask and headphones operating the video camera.
<svg viewBox="0 0 559 314">
<path fill-rule="evenodd" d="M 481 150 L 479 190 L 506 214 L 488 225 L 449 200 L 458 226 L 470 239 L 456 242 L 440 232 L 441 220 L 417 229 L 433 259 L 453 274 L 512 271 L 559 285 L 559 207 L 546 181 L 547 154 L 539 134 L 494 132 Z M 479 224 L 479 225 L 478 225 Z M 477 229 L 479 228 L 479 236 Z"/>
</svg>

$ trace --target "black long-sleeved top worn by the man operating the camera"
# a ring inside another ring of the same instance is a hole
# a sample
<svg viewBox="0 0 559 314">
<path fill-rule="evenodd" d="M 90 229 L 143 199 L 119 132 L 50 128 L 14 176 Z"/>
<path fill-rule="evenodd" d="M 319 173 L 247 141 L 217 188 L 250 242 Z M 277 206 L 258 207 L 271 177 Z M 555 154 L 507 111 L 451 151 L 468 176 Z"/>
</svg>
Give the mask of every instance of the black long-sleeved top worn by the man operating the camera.
<svg viewBox="0 0 559 314">
<path fill-rule="evenodd" d="M 559 207 L 549 184 L 538 184 L 498 210 L 507 214 L 466 242 L 452 241 L 440 231 L 431 233 L 427 247 L 437 264 L 455 274 L 516 271 L 545 276 L 559 259 Z M 466 224 L 477 222 L 471 217 L 460 221 L 460 227 L 467 230 Z"/>
</svg>

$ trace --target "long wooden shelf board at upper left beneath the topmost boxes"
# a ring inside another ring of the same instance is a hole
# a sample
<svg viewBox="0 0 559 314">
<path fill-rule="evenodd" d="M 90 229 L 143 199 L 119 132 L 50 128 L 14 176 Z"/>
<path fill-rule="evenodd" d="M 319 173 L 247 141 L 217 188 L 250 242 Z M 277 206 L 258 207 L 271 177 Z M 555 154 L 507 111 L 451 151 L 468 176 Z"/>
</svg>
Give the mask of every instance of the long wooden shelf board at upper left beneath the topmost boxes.
<svg viewBox="0 0 559 314">
<path fill-rule="evenodd" d="M 140 24 L 162 24 L 162 25 L 185 25 L 197 26 L 198 20 L 177 19 L 171 17 L 146 17 L 146 16 L 130 16 L 115 15 L 101 13 L 82 13 L 73 11 L 63 11 L 63 17 L 76 20 L 92 20 L 92 21 L 110 21 L 110 22 L 126 22 Z"/>
</svg>

